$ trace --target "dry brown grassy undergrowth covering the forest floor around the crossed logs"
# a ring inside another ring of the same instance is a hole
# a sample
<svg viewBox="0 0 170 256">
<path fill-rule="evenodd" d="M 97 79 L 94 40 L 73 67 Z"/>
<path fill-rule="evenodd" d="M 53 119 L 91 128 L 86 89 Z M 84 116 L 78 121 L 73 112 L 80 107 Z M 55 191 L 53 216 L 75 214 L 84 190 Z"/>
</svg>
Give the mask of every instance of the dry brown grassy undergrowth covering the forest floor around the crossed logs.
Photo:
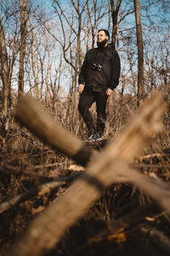
<svg viewBox="0 0 170 256">
<path fill-rule="evenodd" d="M 164 91 L 163 91 L 164 94 Z M 165 100 L 168 98 L 164 95 Z M 67 102 L 65 102 L 66 106 Z M 63 108 L 65 111 L 67 108 Z M 114 140 L 136 111 L 136 98 L 117 96 L 108 104 L 105 140 Z M 67 111 L 69 111 L 67 109 Z M 94 109 L 92 108 L 94 112 Z M 95 112 L 94 112 L 95 115 Z M 78 113 L 75 114 L 78 116 Z M 63 119 L 62 119 L 63 117 Z M 56 112 L 56 119 L 68 130 L 84 139 L 86 128 L 81 119 Z M 36 189 L 65 177 L 60 186 L 41 193 L 29 194 L 27 199 L 0 212 L 0 253 L 5 253 L 23 234 L 31 221 L 67 189 L 72 180 L 83 172 L 74 167 L 73 160 L 40 142 L 25 127 L 9 119 L 8 127 L 1 119 L 0 134 L 0 201 L 9 201 L 26 191 Z M 158 132 L 148 148 L 133 160 L 133 167 L 146 176 L 169 183 L 170 139 L 169 108 L 162 117 L 163 131 Z M 99 147 L 99 150 L 102 148 Z M 67 178 L 68 177 L 68 178 Z M 105 189 L 98 201 L 77 224 L 67 230 L 58 246 L 45 255 L 168 255 L 170 252 L 170 218 L 166 212 L 147 212 L 144 218 L 129 224 L 124 230 L 111 231 L 111 224 L 128 213 L 150 205 L 152 200 L 128 183 L 116 183 Z M 135 216 L 135 215 L 134 215 Z M 138 216 L 138 213 L 137 213 Z M 101 235 L 102 230 L 105 232 Z M 167 241 L 166 241 L 167 239 Z"/>
</svg>

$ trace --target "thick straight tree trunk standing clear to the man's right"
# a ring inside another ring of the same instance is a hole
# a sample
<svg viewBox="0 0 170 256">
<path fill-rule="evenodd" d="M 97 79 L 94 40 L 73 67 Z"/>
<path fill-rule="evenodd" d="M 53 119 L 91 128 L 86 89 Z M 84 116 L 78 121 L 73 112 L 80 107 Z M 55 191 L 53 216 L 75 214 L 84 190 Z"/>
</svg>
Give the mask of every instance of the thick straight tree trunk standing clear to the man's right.
<svg viewBox="0 0 170 256">
<path fill-rule="evenodd" d="M 140 19 L 140 6 L 139 0 L 133 0 L 135 17 L 136 17 L 136 33 L 138 44 L 138 105 L 144 96 L 144 53 L 143 53 L 143 40 L 142 40 L 142 25 Z"/>
</svg>

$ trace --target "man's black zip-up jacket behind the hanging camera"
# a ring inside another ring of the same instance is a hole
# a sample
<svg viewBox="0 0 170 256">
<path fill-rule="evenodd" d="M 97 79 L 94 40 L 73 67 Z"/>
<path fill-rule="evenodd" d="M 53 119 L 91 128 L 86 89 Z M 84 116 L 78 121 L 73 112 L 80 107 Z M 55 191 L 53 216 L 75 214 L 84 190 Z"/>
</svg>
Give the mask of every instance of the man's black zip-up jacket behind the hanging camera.
<svg viewBox="0 0 170 256">
<path fill-rule="evenodd" d="M 93 68 L 94 64 L 100 66 L 101 70 Z M 120 71 L 120 58 L 112 44 L 89 49 L 82 63 L 78 83 L 113 90 L 119 84 Z"/>
</svg>

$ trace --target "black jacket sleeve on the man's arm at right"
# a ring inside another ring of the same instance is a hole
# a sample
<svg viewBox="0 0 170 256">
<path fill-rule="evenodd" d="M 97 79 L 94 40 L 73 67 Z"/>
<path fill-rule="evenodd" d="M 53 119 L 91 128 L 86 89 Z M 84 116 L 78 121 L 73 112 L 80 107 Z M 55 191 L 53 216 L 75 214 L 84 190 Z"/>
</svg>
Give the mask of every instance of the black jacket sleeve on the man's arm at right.
<svg viewBox="0 0 170 256">
<path fill-rule="evenodd" d="M 112 61 L 111 61 L 111 83 L 109 84 L 109 88 L 114 90 L 116 86 L 119 84 L 119 78 L 121 73 L 121 61 L 118 53 L 114 49 Z"/>
</svg>

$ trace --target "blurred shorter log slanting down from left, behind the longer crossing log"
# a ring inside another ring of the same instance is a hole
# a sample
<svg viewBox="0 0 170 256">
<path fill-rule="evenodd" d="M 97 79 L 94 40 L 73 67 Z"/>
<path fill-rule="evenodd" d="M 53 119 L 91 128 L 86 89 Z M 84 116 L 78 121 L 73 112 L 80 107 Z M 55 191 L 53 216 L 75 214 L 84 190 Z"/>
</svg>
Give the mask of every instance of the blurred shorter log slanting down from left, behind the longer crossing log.
<svg viewBox="0 0 170 256">
<path fill-rule="evenodd" d="M 31 96 L 20 96 L 15 119 L 42 142 L 76 160 L 77 164 L 86 166 L 88 163 L 93 151 L 82 144 L 76 135 L 66 131 L 58 122 L 54 122 L 52 116 Z"/>
</svg>

